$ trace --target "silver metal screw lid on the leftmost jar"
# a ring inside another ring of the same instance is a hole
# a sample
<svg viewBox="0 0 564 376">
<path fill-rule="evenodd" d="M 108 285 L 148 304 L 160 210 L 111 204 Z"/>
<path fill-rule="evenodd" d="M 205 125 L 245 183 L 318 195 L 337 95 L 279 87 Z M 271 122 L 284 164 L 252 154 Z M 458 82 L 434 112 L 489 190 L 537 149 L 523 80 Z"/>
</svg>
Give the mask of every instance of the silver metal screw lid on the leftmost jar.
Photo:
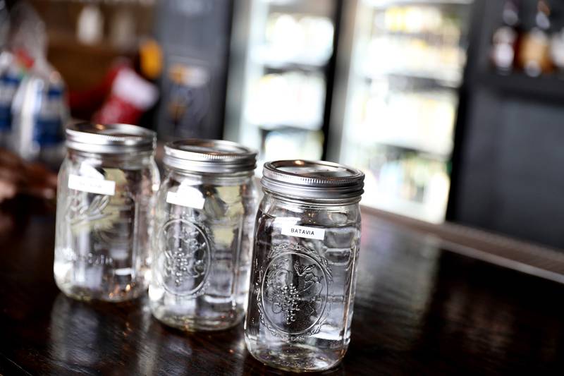
<svg viewBox="0 0 564 376">
<path fill-rule="evenodd" d="M 156 142 L 157 133 L 129 124 L 76 123 L 66 128 L 66 146 L 80 152 L 150 152 Z"/>
</svg>

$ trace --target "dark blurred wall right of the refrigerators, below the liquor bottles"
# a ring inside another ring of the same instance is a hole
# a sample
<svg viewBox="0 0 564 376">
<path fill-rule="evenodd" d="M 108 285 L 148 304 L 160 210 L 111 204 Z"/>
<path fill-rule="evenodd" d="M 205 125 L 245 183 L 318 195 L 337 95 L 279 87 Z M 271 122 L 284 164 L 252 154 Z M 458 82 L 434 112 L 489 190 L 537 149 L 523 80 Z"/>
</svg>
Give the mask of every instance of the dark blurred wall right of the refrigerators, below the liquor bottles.
<svg viewBox="0 0 564 376">
<path fill-rule="evenodd" d="M 447 219 L 564 248 L 564 80 L 489 64 L 501 0 L 478 0 Z"/>
</svg>

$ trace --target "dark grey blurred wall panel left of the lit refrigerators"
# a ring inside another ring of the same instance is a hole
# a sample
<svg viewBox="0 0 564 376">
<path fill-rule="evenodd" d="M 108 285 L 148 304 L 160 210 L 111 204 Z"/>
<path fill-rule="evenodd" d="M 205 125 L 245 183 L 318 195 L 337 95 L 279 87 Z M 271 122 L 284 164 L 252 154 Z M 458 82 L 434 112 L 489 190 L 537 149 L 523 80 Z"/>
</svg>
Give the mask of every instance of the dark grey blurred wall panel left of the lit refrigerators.
<svg viewBox="0 0 564 376">
<path fill-rule="evenodd" d="M 157 2 L 156 34 L 164 50 L 159 138 L 221 138 L 232 12 L 233 0 Z M 198 77 L 175 87 L 173 66 L 197 71 Z M 175 121 L 170 116 L 172 105 L 183 107 Z"/>
</svg>

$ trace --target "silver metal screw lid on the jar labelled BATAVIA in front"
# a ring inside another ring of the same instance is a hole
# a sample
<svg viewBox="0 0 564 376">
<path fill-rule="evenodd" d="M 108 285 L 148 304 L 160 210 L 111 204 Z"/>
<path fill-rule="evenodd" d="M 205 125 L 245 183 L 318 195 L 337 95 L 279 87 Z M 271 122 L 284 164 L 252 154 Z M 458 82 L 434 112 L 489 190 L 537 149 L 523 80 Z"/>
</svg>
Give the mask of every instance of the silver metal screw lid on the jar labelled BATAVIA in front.
<svg viewBox="0 0 564 376">
<path fill-rule="evenodd" d="M 360 198 L 364 193 L 362 171 L 324 161 L 266 162 L 261 183 L 275 193 L 314 200 Z"/>
</svg>

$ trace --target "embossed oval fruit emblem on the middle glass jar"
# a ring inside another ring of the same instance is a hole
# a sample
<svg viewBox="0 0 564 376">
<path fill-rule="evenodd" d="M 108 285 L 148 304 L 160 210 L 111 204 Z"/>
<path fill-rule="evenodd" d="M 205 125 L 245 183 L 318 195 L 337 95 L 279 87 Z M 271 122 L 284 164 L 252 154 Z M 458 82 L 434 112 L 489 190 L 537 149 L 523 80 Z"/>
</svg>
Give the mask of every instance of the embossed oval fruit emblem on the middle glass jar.
<svg viewBox="0 0 564 376">
<path fill-rule="evenodd" d="M 197 295 L 212 263 L 204 231 L 185 219 L 173 219 L 162 227 L 159 242 L 161 284 L 175 295 Z"/>
</svg>

